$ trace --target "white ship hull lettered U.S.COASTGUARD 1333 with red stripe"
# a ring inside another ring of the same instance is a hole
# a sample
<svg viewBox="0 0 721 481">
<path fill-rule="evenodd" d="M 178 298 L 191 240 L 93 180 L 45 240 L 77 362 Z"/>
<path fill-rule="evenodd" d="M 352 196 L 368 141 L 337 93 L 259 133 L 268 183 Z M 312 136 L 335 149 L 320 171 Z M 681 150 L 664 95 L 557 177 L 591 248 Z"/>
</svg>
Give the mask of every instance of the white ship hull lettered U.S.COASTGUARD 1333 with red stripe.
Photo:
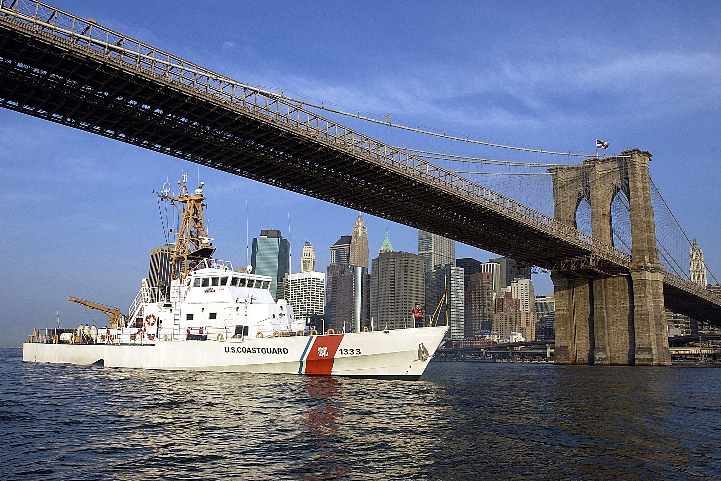
<svg viewBox="0 0 721 481">
<path fill-rule="evenodd" d="M 448 326 L 321 336 L 167 341 L 154 345 L 24 343 L 22 360 L 181 371 L 418 379 Z"/>
</svg>

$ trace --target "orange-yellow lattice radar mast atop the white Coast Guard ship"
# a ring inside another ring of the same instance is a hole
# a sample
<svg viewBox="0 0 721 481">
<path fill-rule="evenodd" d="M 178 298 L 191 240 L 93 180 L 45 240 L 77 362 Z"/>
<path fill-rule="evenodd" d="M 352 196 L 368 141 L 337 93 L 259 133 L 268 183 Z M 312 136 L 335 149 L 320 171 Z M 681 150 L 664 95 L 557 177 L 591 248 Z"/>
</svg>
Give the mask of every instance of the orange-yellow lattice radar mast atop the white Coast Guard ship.
<svg viewBox="0 0 721 481">
<path fill-rule="evenodd" d="M 201 259 L 210 259 L 216 250 L 211 243 L 212 238 L 208 237 L 205 232 L 205 220 L 203 220 L 203 207 L 205 197 L 203 197 L 203 185 L 200 182 L 198 189 L 195 189 L 193 195 L 187 192 L 185 180 L 187 179 L 187 171 L 182 174 L 182 180 L 178 181 L 180 190 L 175 195 L 169 192 L 170 184 L 167 189 L 164 186 L 163 192 L 158 192 L 160 199 L 169 200 L 170 204 L 180 213 L 180 230 L 177 233 L 172 232 L 171 235 L 177 235 L 175 247 L 170 256 L 172 263 L 171 279 L 177 279 L 190 271 L 190 264 L 196 265 Z M 183 205 L 182 210 L 180 204 Z"/>
</svg>

